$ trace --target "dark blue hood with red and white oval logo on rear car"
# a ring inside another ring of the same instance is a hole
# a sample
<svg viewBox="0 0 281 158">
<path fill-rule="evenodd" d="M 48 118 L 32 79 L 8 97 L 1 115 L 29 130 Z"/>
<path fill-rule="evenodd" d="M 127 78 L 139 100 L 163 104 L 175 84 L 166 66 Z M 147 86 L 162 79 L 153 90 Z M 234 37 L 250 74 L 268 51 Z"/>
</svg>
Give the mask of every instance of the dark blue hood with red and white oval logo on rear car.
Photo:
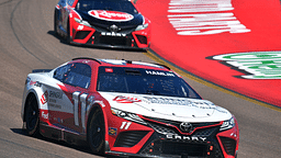
<svg viewBox="0 0 281 158">
<path fill-rule="evenodd" d="M 82 20 L 88 21 L 91 25 L 113 25 L 117 26 L 137 26 L 144 23 L 142 14 L 130 14 L 117 11 L 89 10 L 77 11 Z"/>
</svg>

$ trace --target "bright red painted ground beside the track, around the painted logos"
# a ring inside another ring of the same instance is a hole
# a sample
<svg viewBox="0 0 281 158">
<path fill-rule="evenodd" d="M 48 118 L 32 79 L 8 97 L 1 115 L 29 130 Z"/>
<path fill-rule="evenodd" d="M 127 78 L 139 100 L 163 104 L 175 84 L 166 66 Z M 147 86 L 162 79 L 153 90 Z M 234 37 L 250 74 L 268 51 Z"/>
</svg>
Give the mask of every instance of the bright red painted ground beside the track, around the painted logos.
<svg viewBox="0 0 281 158">
<path fill-rule="evenodd" d="M 171 14 L 168 12 L 169 2 L 170 0 L 138 0 L 136 3 L 139 11 L 153 23 L 151 49 L 154 52 L 195 76 L 247 97 L 281 106 L 280 80 L 236 78 L 245 74 L 218 60 L 206 59 L 210 56 L 231 53 L 281 50 L 279 0 L 233 0 L 234 10 L 232 11 L 205 12 L 233 13 L 240 24 L 250 30 L 248 33 L 224 32 L 213 35 L 184 36 L 178 35 L 168 20 L 168 15 Z"/>
</svg>

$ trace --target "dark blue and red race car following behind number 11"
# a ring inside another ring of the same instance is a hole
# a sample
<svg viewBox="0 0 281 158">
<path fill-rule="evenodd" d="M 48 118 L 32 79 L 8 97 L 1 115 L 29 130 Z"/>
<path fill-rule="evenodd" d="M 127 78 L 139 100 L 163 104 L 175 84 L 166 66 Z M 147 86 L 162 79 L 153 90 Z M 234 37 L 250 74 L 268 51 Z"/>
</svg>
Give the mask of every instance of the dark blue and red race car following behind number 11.
<svg viewBox="0 0 281 158">
<path fill-rule="evenodd" d="M 70 44 L 147 49 L 150 27 L 131 0 L 59 0 L 55 8 L 55 33 Z"/>
</svg>

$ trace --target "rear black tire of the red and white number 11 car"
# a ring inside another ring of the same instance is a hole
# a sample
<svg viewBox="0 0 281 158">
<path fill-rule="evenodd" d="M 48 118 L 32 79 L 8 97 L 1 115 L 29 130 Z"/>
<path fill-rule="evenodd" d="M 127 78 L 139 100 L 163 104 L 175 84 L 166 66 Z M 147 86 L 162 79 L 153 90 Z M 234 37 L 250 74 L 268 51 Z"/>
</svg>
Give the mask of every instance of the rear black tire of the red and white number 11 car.
<svg viewBox="0 0 281 158">
<path fill-rule="evenodd" d="M 38 135 L 40 111 L 35 95 L 31 95 L 25 108 L 26 132 L 30 136 Z"/>
</svg>

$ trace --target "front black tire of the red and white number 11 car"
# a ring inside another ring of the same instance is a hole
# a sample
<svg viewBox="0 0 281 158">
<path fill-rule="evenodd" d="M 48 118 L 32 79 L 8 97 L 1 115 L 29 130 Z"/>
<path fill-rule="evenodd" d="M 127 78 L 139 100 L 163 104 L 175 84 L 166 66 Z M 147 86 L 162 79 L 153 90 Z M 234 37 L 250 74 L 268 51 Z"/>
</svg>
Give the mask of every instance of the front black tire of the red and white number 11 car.
<svg viewBox="0 0 281 158">
<path fill-rule="evenodd" d="M 104 119 L 100 109 L 95 110 L 88 126 L 87 140 L 93 154 L 104 154 Z"/>
</svg>

